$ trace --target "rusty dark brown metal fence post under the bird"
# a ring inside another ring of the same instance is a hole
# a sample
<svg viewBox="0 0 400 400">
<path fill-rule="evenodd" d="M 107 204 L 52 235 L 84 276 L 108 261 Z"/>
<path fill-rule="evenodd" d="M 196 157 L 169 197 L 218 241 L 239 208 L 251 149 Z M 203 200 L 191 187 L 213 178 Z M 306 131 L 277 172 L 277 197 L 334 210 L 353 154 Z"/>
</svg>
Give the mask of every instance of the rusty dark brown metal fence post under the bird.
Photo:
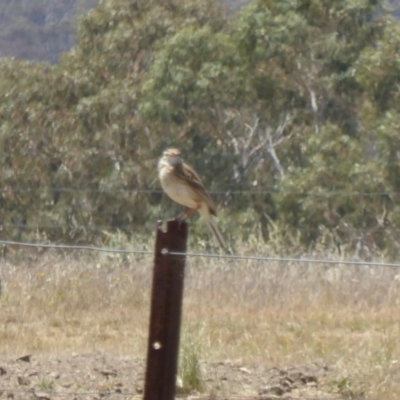
<svg viewBox="0 0 400 400">
<path fill-rule="evenodd" d="M 188 225 L 157 226 L 144 400 L 173 400 L 178 369 Z"/>
</svg>

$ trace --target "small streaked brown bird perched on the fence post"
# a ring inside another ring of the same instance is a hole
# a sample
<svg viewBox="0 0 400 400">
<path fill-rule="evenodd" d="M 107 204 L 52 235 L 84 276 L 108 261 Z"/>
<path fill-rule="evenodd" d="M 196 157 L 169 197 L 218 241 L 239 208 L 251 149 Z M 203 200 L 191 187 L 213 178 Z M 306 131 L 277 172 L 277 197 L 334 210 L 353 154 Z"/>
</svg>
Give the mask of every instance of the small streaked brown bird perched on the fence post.
<svg viewBox="0 0 400 400">
<path fill-rule="evenodd" d="M 198 211 L 206 220 L 218 244 L 227 249 L 225 240 L 213 220 L 213 216 L 217 215 L 217 208 L 200 177 L 193 168 L 183 162 L 178 149 L 164 151 L 158 163 L 158 177 L 167 196 L 188 208 L 183 219 Z"/>
</svg>

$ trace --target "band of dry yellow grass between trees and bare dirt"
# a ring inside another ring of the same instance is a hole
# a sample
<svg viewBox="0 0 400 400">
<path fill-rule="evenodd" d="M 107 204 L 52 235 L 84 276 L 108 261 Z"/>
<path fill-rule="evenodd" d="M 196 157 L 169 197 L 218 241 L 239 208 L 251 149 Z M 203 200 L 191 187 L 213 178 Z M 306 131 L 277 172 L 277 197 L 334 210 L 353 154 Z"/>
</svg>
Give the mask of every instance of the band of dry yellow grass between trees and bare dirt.
<svg viewBox="0 0 400 400">
<path fill-rule="evenodd" d="M 4 257 L 0 353 L 145 357 L 152 261 L 20 251 Z M 400 270 L 388 267 L 189 258 L 184 336 L 208 361 L 323 360 L 335 371 L 332 391 L 397 399 L 399 278 Z"/>
</svg>

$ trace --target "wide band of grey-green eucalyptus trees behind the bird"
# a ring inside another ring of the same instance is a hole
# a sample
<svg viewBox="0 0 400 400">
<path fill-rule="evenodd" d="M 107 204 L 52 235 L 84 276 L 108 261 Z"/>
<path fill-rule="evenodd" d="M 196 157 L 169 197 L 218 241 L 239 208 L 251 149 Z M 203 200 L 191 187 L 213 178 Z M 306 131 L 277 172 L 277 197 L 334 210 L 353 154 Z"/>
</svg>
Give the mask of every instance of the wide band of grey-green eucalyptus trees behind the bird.
<svg viewBox="0 0 400 400">
<path fill-rule="evenodd" d="M 383 5 L 110 0 L 59 65 L 2 59 L 1 236 L 153 226 L 171 203 L 141 189 L 177 146 L 229 230 L 396 257 L 400 28 Z"/>
</svg>

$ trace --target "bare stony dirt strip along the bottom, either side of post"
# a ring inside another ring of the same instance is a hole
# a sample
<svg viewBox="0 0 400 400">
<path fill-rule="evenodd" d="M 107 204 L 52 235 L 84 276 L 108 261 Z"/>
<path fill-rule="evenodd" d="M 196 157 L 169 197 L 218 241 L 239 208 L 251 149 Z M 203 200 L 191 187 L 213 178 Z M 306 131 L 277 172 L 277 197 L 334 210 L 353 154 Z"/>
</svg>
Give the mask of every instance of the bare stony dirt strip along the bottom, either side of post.
<svg viewBox="0 0 400 400">
<path fill-rule="evenodd" d="M 337 398 L 326 384 L 330 368 L 319 363 L 280 369 L 237 360 L 202 363 L 201 371 L 204 398 Z M 140 398 L 144 373 L 144 359 L 103 353 L 0 357 L 0 399 Z"/>
</svg>

